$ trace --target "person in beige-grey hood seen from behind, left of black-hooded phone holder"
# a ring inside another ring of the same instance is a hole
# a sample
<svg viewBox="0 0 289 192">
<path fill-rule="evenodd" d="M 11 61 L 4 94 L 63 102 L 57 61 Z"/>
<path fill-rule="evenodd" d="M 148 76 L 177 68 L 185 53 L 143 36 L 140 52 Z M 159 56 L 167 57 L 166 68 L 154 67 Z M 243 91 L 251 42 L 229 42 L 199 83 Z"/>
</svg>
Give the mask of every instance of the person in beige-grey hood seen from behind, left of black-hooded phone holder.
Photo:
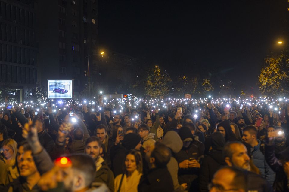
<svg viewBox="0 0 289 192">
<path fill-rule="evenodd" d="M 182 149 L 183 141 L 176 131 L 168 131 L 163 138 L 164 145 L 166 145 L 172 152 L 172 157 L 167 164 L 167 168 L 172 177 L 175 191 L 184 191 L 187 188 L 187 183 L 179 184 L 178 171 L 179 164 L 175 155 Z"/>
</svg>

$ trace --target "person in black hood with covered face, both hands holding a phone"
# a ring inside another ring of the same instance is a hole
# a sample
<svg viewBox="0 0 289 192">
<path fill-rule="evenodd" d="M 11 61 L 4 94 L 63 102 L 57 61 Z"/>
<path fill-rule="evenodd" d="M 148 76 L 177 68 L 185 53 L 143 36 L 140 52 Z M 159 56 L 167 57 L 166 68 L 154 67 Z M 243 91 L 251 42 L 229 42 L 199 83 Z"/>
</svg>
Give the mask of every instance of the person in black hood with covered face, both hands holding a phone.
<svg viewBox="0 0 289 192">
<path fill-rule="evenodd" d="M 194 136 L 190 128 L 182 127 L 179 130 L 179 136 L 182 139 L 183 147 L 176 154 L 180 168 L 178 179 L 180 183 L 188 184 L 188 191 L 194 191 L 198 187 L 199 161 L 203 154 L 199 154 L 198 147 L 193 144 Z"/>
</svg>

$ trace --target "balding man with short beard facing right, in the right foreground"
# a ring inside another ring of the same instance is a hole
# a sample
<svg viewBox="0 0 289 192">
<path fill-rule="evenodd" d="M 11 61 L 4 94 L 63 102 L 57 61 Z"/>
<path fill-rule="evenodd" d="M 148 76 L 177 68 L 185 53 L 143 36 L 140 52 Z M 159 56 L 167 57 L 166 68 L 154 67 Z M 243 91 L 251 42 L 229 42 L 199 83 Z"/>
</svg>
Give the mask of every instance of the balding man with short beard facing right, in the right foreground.
<svg viewBox="0 0 289 192">
<path fill-rule="evenodd" d="M 272 187 L 266 179 L 250 171 L 250 157 L 243 143 L 239 141 L 227 142 L 224 147 L 223 156 L 228 166 L 244 170 L 244 173 L 248 177 L 248 190 L 258 192 L 272 191 Z"/>
</svg>

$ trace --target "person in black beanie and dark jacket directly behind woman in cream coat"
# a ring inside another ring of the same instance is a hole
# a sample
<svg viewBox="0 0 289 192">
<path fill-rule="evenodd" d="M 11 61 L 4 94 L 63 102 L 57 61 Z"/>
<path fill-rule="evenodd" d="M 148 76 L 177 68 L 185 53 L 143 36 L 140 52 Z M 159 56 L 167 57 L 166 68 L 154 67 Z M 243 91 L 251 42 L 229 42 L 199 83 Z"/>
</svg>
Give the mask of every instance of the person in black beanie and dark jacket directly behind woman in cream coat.
<svg viewBox="0 0 289 192">
<path fill-rule="evenodd" d="M 122 143 L 115 143 L 110 149 L 111 170 L 114 176 L 118 176 L 123 173 L 123 164 L 126 158 L 126 152 L 135 149 L 140 151 L 141 149 L 141 137 L 134 133 L 126 134 L 122 140 Z"/>
</svg>

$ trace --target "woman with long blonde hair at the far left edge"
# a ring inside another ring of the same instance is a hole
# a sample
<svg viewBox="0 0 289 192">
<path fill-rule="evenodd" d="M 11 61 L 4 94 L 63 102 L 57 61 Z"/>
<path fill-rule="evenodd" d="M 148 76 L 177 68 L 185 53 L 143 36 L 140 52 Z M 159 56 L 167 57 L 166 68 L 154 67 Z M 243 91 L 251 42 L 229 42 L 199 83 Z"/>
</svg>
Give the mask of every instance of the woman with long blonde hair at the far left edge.
<svg viewBox="0 0 289 192">
<path fill-rule="evenodd" d="M 12 191 L 10 186 L 19 177 L 16 166 L 17 143 L 13 139 L 6 139 L 2 143 L 0 156 L 0 191 Z"/>
</svg>

